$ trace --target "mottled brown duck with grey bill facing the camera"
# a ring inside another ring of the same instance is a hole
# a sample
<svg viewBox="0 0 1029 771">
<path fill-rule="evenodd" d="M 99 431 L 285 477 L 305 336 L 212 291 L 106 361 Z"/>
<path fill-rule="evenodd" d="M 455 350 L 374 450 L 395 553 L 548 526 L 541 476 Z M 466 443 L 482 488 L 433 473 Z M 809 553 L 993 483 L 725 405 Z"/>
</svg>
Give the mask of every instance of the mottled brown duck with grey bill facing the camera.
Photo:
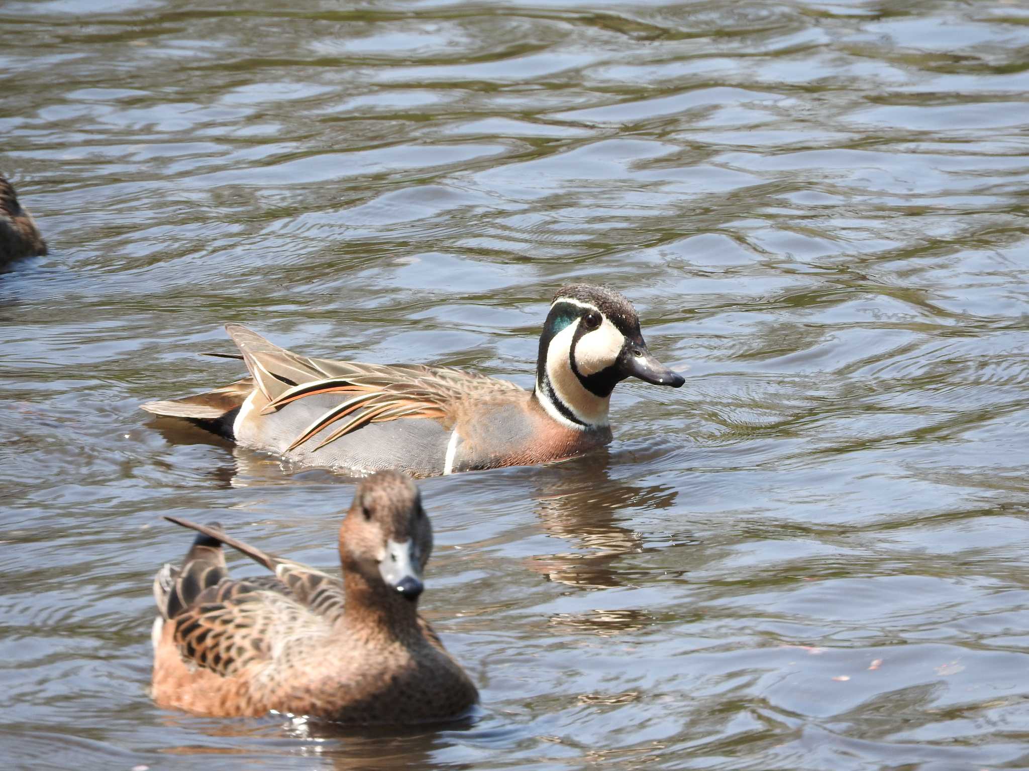
<svg viewBox="0 0 1029 771">
<path fill-rule="evenodd" d="M 166 564 L 154 579 L 161 615 L 152 696 L 159 706 L 404 724 L 460 717 L 478 700 L 418 615 L 432 527 L 404 475 L 381 472 L 358 485 L 340 527 L 342 581 L 217 525 L 166 518 L 200 535 L 181 567 Z M 229 578 L 222 544 L 274 576 Z"/>
</svg>

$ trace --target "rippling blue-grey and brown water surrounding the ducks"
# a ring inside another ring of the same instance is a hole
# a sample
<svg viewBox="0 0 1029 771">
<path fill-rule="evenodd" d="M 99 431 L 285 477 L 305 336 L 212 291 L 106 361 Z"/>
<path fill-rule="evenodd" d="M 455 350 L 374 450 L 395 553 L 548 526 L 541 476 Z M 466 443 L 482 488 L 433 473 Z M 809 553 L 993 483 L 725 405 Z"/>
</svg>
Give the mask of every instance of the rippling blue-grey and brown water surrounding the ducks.
<svg viewBox="0 0 1029 771">
<path fill-rule="evenodd" d="M 200 5 L 0 6 L 51 247 L 0 276 L 6 765 L 1029 765 L 1029 7 Z M 331 566 L 353 487 L 138 404 L 237 376 L 226 321 L 528 386 L 569 280 L 688 379 L 424 483 L 481 711 L 155 708 L 158 515 Z"/>
</svg>

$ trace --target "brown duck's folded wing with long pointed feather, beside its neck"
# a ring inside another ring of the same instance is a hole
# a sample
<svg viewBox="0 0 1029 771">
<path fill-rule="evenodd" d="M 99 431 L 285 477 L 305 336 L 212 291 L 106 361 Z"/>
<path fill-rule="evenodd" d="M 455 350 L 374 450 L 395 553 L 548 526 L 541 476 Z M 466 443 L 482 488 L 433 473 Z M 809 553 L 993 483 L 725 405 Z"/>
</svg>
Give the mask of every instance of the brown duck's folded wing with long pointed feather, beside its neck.
<svg viewBox="0 0 1029 771">
<path fill-rule="evenodd" d="M 343 582 L 335 576 L 300 562 L 294 562 L 291 559 L 269 554 L 255 546 L 233 538 L 220 528 L 198 524 L 178 517 L 166 516 L 165 519 L 197 530 L 226 546 L 232 546 L 237 551 L 243 552 L 254 561 L 264 565 L 275 574 L 275 580 L 281 584 L 281 589 L 278 591 L 286 590 L 287 595 L 293 601 L 315 615 L 325 618 L 326 621 L 332 622 L 343 613 Z M 250 580 L 250 585 L 253 588 L 275 589 L 262 578 Z"/>
</svg>

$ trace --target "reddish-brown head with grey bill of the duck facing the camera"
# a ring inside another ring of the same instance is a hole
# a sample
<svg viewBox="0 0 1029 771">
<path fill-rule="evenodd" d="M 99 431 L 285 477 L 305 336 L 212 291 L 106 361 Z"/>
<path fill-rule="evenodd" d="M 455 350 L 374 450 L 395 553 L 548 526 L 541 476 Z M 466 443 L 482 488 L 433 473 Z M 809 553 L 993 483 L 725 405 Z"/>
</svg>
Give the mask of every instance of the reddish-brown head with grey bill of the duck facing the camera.
<svg viewBox="0 0 1029 771">
<path fill-rule="evenodd" d="M 340 527 L 344 571 L 414 601 L 425 588 L 422 576 L 431 552 L 432 525 L 411 478 L 381 471 L 362 479 Z"/>
</svg>

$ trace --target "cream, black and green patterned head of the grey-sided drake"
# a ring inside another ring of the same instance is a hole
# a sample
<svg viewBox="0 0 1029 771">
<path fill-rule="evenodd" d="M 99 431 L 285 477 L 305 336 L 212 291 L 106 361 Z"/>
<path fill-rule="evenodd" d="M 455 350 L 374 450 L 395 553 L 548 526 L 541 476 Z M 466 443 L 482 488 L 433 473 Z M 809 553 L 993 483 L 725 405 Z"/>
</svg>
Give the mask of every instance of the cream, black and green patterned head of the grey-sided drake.
<svg viewBox="0 0 1029 771">
<path fill-rule="evenodd" d="M 620 293 L 590 284 L 562 287 L 539 336 L 540 403 L 566 425 L 606 426 L 611 391 L 627 377 L 673 389 L 685 382 L 647 351 L 636 308 Z"/>
</svg>

